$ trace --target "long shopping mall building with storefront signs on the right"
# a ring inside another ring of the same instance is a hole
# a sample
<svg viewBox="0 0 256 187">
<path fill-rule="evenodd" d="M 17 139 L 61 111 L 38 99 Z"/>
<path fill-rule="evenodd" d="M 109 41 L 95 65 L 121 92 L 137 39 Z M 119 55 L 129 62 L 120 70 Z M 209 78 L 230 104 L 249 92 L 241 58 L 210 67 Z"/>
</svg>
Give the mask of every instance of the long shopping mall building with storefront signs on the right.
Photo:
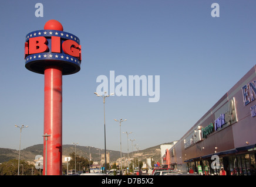
<svg viewBox="0 0 256 187">
<path fill-rule="evenodd" d="M 162 162 L 182 172 L 251 175 L 256 168 L 256 65 L 201 117 Z"/>
</svg>

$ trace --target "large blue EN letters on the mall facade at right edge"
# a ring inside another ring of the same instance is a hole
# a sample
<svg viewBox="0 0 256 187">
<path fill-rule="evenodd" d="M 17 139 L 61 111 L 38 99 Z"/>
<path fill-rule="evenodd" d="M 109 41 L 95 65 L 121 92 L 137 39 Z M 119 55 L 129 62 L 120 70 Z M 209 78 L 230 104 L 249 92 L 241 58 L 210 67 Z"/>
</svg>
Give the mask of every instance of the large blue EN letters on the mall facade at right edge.
<svg viewBox="0 0 256 187">
<path fill-rule="evenodd" d="M 244 105 L 254 101 L 256 98 L 256 80 L 242 86 L 242 98 L 244 99 Z"/>
</svg>

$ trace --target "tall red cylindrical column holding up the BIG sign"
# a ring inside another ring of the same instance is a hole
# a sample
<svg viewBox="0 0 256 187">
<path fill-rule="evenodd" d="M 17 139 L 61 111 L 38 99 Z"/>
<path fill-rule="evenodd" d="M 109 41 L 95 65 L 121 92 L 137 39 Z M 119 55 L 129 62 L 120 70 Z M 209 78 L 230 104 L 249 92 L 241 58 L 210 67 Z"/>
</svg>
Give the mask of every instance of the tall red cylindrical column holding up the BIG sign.
<svg viewBox="0 0 256 187">
<path fill-rule="evenodd" d="M 45 68 L 44 134 L 47 141 L 47 175 L 62 175 L 62 71 L 58 67 Z M 46 158 L 46 141 L 43 158 Z M 43 165 L 46 165 L 45 159 Z M 45 175 L 45 167 L 43 167 Z"/>
</svg>

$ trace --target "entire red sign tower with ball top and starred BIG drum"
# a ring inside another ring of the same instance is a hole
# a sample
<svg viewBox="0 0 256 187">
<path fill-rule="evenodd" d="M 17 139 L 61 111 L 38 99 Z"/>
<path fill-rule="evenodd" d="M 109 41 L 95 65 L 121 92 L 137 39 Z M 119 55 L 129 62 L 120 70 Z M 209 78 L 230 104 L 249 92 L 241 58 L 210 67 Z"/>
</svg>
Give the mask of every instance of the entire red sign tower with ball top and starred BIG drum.
<svg viewBox="0 0 256 187">
<path fill-rule="evenodd" d="M 45 75 L 44 133 L 47 141 L 47 175 L 62 175 L 62 75 L 80 71 L 81 46 L 61 23 L 49 20 L 44 30 L 26 35 L 25 67 Z M 43 158 L 46 158 L 46 141 Z M 46 166 L 46 160 L 43 160 Z M 43 175 L 45 175 L 43 167 Z"/>
</svg>

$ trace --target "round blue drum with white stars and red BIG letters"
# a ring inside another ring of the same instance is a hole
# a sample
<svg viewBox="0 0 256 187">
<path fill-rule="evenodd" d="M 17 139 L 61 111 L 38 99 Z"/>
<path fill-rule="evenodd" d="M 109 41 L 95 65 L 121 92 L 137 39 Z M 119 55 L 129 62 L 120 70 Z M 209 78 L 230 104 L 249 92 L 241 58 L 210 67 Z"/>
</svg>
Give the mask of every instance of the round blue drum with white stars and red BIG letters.
<svg viewBox="0 0 256 187">
<path fill-rule="evenodd" d="M 36 30 L 26 35 L 24 56 L 28 70 L 43 74 L 54 62 L 62 67 L 63 75 L 73 74 L 80 70 L 80 40 L 60 30 Z"/>
</svg>

